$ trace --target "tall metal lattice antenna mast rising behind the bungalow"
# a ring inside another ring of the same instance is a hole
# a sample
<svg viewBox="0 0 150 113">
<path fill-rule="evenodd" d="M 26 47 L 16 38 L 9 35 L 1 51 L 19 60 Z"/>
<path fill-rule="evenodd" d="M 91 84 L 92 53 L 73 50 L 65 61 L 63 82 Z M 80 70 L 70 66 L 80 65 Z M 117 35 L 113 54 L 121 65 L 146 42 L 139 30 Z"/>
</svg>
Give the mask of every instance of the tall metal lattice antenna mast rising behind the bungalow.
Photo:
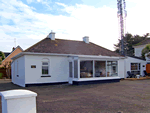
<svg viewBox="0 0 150 113">
<path fill-rule="evenodd" d="M 117 0 L 117 7 L 118 7 L 118 20 L 119 20 L 119 38 L 121 39 L 120 45 L 120 54 L 125 56 L 126 49 L 125 49 L 125 39 L 124 39 L 124 22 L 126 20 L 127 11 L 126 11 L 126 2 L 125 0 Z"/>
</svg>

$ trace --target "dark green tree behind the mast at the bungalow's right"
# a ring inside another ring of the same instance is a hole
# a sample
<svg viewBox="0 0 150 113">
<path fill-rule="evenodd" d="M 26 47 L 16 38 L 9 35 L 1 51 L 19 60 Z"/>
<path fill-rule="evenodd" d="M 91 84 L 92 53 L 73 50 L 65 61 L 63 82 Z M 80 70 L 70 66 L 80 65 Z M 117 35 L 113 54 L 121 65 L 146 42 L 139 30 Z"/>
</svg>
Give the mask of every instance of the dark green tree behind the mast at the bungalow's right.
<svg viewBox="0 0 150 113">
<path fill-rule="evenodd" d="M 146 37 L 149 36 L 149 33 L 145 34 L 144 36 L 139 36 L 139 35 L 132 35 L 130 33 L 127 33 L 125 35 L 124 39 L 124 50 L 126 51 L 126 55 L 129 56 L 134 56 L 134 48 L 133 45 L 139 44 L 141 41 L 146 39 Z M 114 44 L 115 46 L 115 52 L 119 53 L 120 52 L 120 44 L 121 40 L 118 40 L 119 42 L 117 44 Z"/>
</svg>

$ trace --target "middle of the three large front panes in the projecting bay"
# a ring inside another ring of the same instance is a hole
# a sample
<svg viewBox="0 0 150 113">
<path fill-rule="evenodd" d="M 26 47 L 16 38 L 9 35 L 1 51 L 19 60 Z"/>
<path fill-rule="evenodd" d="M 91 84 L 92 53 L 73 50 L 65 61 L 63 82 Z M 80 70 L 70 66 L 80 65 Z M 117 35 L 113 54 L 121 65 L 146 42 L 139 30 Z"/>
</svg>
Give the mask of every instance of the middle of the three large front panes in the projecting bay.
<svg viewBox="0 0 150 113">
<path fill-rule="evenodd" d="M 95 77 L 106 77 L 105 61 L 95 61 Z"/>
</svg>

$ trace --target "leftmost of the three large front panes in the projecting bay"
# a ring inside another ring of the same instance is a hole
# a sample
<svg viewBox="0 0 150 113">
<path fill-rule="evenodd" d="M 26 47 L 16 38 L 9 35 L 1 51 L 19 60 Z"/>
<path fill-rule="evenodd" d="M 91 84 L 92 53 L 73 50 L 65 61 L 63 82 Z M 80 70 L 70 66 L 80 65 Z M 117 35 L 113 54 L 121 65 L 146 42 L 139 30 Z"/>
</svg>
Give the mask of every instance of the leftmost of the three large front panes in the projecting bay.
<svg viewBox="0 0 150 113">
<path fill-rule="evenodd" d="M 80 62 L 80 78 L 93 77 L 93 61 Z"/>
</svg>

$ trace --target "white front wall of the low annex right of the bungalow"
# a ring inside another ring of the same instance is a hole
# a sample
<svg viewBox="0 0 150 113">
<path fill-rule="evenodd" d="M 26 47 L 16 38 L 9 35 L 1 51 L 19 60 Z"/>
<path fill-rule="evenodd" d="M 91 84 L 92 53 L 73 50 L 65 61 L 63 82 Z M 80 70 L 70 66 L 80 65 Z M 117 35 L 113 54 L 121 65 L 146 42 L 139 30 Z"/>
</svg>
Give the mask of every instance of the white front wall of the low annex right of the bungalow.
<svg viewBox="0 0 150 113">
<path fill-rule="evenodd" d="M 128 76 L 127 71 L 131 72 L 131 63 L 140 63 L 141 67 L 140 67 L 140 75 L 144 76 L 143 70 L 146 70 L 146 61 L 144 60 L 140 60 L 140 59 L 136 59 L 136 58 L 132 58 L 132 57 L 127 57 L 125 59 L 125 64 L 126 64 L 126 77 Z M 143 65 L 145 67 L 143 67 Z"/>
</svg>

